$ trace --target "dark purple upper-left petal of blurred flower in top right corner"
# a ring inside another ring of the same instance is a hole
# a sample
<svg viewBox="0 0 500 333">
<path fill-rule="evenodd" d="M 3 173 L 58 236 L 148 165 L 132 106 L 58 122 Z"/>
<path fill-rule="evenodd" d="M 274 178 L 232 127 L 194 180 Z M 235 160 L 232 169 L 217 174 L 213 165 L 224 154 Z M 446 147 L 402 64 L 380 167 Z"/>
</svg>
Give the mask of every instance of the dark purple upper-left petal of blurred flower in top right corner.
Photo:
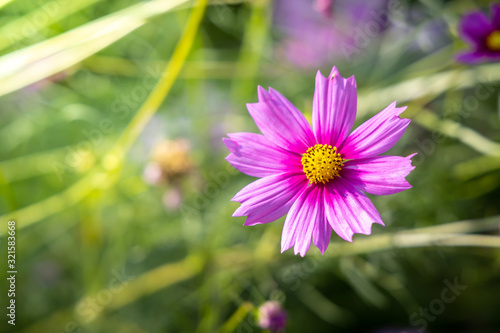
<svg viewBox="0 0 500 333">
<path fill-rule="evenodd" d="M 481 11 L 469 13 L 460 21 L 460 36 L 476 48 L 483 47 L 484 39 L 492 31 L 493 26 Z"/>
</svg>

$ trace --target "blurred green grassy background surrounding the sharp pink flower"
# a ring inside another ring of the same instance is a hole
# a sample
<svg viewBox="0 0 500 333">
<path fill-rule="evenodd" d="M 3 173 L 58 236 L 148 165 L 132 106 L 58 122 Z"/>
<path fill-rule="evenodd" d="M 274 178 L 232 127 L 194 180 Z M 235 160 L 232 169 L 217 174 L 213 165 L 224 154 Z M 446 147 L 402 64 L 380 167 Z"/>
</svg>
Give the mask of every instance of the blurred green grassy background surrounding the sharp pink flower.
<svg viewBox="0 0 500 333">
<path fill-rule="evenodd" d="M 500 64 L 454 60 L 490 3 L 319 3 L 0 1 L 1 332 L 261 332 L 267 300 L 286 332 L 500 332 Z M 372 235 L 281 254 L 283 219 L 231 216 L 253 179 L 222 138 L 258 131 L 257 85 L 310 117 L 333 65 L 356 126 L 408 106 L 414 187 L 370 196 Z"/>
</svg>

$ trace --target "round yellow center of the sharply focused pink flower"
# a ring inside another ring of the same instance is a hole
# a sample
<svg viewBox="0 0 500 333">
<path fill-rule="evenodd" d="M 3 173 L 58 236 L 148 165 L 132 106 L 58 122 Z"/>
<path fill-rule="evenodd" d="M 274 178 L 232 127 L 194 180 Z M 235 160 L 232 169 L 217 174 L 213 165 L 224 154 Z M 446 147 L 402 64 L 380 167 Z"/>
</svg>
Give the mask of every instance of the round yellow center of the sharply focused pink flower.
<svg viewBox="0 0 500 333">
<path fill-rule="evenodd" d="M 337 147 L 317 144 L 302 155 L 302 166 L 307 179 L 313 184 L 326 184 L 339 176 L 344 161 L 337 153 Z"/>
</svg>

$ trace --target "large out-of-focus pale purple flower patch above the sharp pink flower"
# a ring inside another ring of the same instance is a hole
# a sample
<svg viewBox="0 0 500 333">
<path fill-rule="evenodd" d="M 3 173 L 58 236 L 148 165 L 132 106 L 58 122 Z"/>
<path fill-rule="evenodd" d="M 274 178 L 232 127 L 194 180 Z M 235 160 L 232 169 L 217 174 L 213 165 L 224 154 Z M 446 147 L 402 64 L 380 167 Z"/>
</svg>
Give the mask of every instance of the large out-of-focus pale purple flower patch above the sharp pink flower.
<svg viewBox="0 0 500 333">
<path fill-rule="evenodd" d="M 388 25 L 386 0 L 275 1 L 274 22 L 282 34 L 278 53 L 295 66 L 317 68 L 350 61 Z"/>
</svg>

